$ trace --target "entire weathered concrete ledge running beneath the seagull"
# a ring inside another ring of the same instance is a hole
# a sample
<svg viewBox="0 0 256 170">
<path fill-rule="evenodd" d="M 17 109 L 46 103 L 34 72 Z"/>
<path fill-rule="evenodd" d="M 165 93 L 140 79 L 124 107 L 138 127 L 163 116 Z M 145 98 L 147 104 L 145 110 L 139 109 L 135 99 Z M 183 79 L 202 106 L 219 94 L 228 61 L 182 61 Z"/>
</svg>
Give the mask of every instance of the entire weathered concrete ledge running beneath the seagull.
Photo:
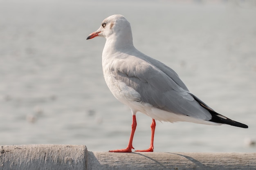
<svg viewBox="0 0 256 170">
<path fill-rule="evenodd" d="M 83 145 L 0 146 L 0 170 L 256 170 L 256 153 L 90 152 Z"/>
</svg>

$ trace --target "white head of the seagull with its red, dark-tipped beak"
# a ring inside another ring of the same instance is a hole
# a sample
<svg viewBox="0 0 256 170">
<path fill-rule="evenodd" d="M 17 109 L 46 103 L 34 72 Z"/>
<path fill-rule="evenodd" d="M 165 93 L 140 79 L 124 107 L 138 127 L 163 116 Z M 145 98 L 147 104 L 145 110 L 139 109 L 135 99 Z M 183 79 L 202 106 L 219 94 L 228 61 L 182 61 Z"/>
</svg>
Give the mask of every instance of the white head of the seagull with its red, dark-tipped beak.
<svg viewBox="0 0 256 170">
<path fill-rule="evenodd" d="M 103 20 L 99 29 L 94 33 L 91 33 L 87 40 L 97 36 L 105 37 L 107 40 L 111 39 L 114 44 L 120 42 L 132 44 L 132 30 L 130 23 L 123 15 L 111 15 Z"/>
</svg>

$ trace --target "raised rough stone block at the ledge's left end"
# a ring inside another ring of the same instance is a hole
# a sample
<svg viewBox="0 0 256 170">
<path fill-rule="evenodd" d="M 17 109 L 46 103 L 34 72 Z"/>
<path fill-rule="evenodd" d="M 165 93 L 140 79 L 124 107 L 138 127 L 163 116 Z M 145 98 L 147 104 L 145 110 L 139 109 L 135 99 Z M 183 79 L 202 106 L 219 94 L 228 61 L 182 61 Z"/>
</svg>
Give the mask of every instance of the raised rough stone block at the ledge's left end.
<svg viewBox="0 0 256 170">
<path fill-rule="evenodd" d="M 0 170 L 85 170 L 82 145 L 0 146 Z"/>
</svg>

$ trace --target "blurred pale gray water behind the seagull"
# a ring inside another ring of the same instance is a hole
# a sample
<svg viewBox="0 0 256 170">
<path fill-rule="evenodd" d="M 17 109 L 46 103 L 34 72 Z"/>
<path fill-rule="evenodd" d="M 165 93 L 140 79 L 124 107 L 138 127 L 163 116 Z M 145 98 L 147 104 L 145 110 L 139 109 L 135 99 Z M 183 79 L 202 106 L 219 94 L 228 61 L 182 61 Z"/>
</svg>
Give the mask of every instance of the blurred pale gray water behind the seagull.
<svg viewBox="0 0 256 170">
<path fill-rule="evenodd" d="M 249 126 L 157 122 L 155 151 L 256 152 L 245 144 L 256 140 L 256 7 L 165 1 L 0 1 L 0 145 L 127 146 L 132 117 L 104 82 L 105 40 L 85 40 L 113 14 L 130 21 L 137 49 Z M 150 123 L 137 114 L 136 149 L 148 148 Z"/>
</svg>

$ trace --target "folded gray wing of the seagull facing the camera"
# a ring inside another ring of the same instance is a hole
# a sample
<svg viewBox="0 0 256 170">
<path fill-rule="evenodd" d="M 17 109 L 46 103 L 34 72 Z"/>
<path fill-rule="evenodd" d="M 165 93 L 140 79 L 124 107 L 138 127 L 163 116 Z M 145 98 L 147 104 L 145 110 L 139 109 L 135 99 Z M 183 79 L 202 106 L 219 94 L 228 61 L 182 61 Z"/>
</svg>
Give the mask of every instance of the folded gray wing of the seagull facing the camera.
<svg viewBox="0 0 256 170">
<path fill-rule="evenodd" d="M 190 95 L 177 73 L 163 63 L 152 59 L 132 58 L 119 62 L 111 69 L 115 78 L 135 89 L 140 101 L 171 113 L 210 120 L 211 114 Z"/>
</svg>

